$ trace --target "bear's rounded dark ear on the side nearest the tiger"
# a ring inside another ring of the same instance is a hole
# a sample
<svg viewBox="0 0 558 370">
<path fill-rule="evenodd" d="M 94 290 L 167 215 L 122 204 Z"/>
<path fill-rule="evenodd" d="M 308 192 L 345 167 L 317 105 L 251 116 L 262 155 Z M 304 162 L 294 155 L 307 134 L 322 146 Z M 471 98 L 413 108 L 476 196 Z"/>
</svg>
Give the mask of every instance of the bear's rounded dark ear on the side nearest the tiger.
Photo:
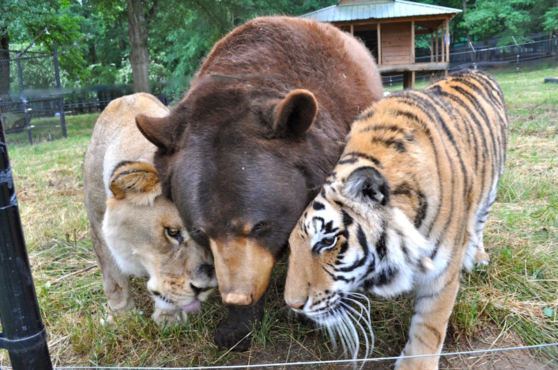
<svg viewBox="0 0 558 370">
<path fill-rule="evenodd" d="M 287 94 L 273 112 L 273 133 L 276 137 L 300 136 L 314 122 L 318 102 L 308 90 L 297 89 Z"/>
</svg>

